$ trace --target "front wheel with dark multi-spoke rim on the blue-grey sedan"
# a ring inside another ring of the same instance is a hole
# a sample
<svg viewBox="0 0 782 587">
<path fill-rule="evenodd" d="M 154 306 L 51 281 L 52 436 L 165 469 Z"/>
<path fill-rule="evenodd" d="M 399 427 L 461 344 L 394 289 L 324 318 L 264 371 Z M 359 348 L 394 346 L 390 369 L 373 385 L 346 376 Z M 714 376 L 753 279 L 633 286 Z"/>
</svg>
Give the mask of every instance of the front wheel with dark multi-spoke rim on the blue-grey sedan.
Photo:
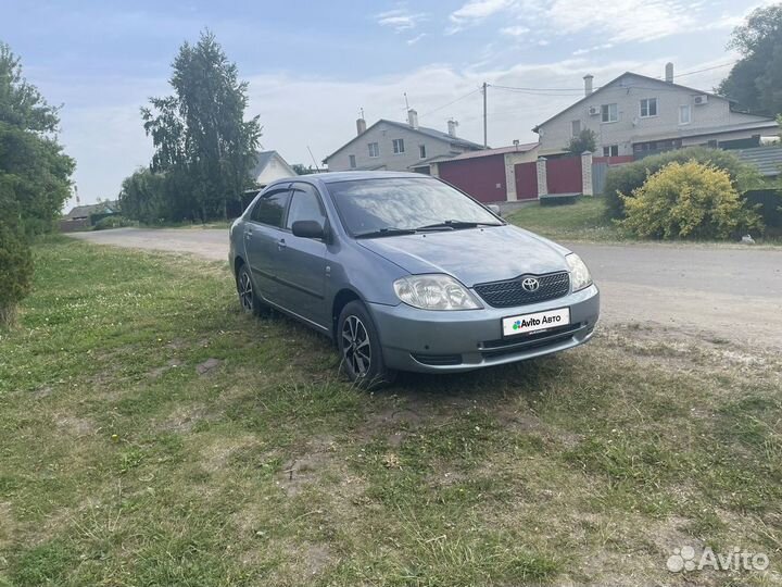
<svg viewBox="0 0 782 587">
<path fill-rule="evenodd" d="M 380 337 L 362 302 L 349 302 L 340 312 L 337 348 L 342 371 L 356 386 L 375 389 L 396 378 L 396 372 L 386 367 Z"/>
</svg>

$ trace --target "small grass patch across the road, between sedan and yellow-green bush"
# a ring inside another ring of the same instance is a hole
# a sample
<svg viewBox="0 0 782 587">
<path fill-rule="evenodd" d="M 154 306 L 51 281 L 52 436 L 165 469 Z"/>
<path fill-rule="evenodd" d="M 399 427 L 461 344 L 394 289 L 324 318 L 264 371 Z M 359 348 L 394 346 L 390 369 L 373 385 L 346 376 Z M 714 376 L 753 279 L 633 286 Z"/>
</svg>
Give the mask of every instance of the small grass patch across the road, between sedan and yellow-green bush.
<svg viewBox="0 0 782 587">
<path fill-rule="evenodd" d="M 603 241 L 625 238 L 606 218 L 605 200 L 600 196 L 582 196 L 572 204 L 541 205 L 535 202 L 513 212 L 506 220 L 553 239 Z"/>
</svg>

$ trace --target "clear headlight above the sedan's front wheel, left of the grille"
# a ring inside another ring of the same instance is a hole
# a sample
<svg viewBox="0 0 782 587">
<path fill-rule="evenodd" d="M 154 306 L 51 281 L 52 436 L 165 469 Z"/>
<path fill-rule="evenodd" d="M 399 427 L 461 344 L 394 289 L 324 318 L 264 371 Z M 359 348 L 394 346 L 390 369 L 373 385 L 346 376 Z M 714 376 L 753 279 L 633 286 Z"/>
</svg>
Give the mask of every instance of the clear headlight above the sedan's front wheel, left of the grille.
<svg viewBox="0 0 782 587">
<path fill-rule="evenodd" d="M 408 275 L 394 282 L 396 297 L 421 310 L 483 308 L 469 290 L 450 275 Z"/>
</svg>

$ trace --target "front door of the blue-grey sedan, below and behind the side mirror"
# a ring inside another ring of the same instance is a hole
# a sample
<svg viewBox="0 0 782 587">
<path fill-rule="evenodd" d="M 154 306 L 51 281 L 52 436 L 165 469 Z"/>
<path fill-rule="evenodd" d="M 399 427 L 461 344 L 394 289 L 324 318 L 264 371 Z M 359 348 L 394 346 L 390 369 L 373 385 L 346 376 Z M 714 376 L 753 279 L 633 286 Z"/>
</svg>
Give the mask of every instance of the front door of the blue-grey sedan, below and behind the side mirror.
<svg viewBox="0 0 782 587">
<path fill-rule="evenodd" d="M 326 308 L 326 242 L 321 239 L 293 236 L 297 221 L 316 221 L 327 227 L 328 222 L 317 189 L 295 183 L 285 222 L 286 235 L 279 251 L 279 290 L 281 305 L 310 322 L 327 328 Z"/>
</svg>

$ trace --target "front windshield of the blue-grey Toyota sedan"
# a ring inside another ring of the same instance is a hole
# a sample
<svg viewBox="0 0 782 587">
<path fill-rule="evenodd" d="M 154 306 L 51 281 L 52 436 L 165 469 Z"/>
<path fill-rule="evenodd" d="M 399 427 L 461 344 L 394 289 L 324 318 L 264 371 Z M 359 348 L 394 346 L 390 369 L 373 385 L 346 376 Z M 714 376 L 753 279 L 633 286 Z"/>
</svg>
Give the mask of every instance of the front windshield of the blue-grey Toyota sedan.
<svg viewBox="0 0 782 587">
<path fill-rule="evenodd" d="M 337 182 L 329 191 L 345 228 L 356 237 L 503 224 L 461 191 L 431 178 Z"/>
</svg>

